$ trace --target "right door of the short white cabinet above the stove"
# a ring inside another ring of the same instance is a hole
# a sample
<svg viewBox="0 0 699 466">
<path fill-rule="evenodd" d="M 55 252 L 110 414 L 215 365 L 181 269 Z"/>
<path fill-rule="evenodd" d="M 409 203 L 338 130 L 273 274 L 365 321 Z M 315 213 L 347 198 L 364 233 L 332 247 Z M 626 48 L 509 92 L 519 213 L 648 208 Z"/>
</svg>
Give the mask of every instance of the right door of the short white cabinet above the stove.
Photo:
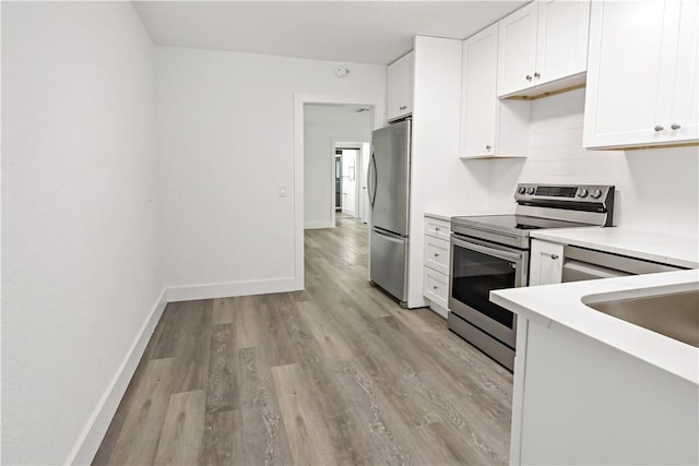
<svg viewBox="0 0 699 466">
<path fill-rule="evenodd" d="M 583 73 L 588 68 L 590 1 L 538 2 L 534 83 Z"/>
</svg>

